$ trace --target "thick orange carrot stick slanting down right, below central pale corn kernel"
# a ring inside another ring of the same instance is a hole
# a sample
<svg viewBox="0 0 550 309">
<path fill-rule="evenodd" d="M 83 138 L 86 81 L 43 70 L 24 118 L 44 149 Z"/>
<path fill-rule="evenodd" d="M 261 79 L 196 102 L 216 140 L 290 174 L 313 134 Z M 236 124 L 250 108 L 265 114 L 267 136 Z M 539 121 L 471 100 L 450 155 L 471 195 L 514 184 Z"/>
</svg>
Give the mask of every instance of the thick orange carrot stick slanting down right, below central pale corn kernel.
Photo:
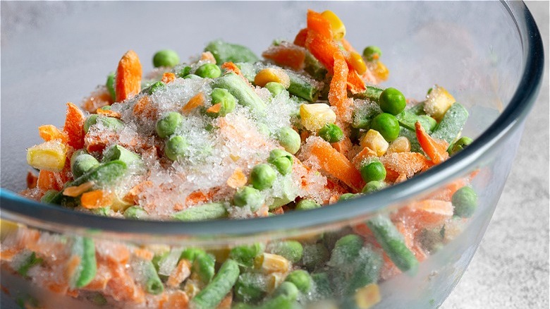
<svg viewBox="0 0 550 309">
<path fill-rule="evenodd" d="M 334 149 L 328 142 L 315 140 L 310 147 L 311 154 L 317 158 L 319 165 L 323 171 L 338 178 L 346 185 L 358 192 L 365 185 L 361 178 L 361 174 L 351 162 Z"/>
</svg>

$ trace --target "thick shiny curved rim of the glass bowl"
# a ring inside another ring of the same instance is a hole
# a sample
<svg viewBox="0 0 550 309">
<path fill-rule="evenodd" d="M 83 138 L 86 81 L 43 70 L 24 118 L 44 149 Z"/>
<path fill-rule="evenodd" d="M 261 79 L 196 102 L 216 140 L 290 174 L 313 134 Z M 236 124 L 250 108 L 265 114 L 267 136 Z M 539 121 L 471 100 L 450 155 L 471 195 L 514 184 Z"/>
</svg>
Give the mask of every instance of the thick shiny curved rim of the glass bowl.
<svg viewBox="0 0 550 309">
<path fill-rule="evenodd" d="M 408 200 L 418 193 L 427 192 L 446 180 L 463 174 L 468 166 L 483 157 L 494 144 L 513 133 L 515 131 L 513 129 L 523 123 L 537 97 L 544 72 L 544 49 L 539 30 L 522 1 L 501 1 L 501 5 L 515 23 L 524 56 L 523 73 L 520 75 L 520 83 L 510 103 L 472 145 L 443 164 L 434 166 L 409 181 L 398 183 L 377 193 L 338 203 L 338 207 L 290 212 L 283 216 L 208 222 L 166 222 L 99 217 L 63 207 L 45 205 L 20 197 L 11 190 L 0 188 L 0 216 L 21 224 L 56 232 L 90 234 L 94 231 L 102 231 L 104 235 L 125 235 L 135 240 L 150 236 L 162 238 L 173 236 L 220 241 L 227 237 L 260 235 L 283 230 L 303 232 L 321 229 L 329 224 L 364 217 L 388 205 Z M 21 207 L 22 205 L 24 207 Z M 365 207 L 365 205 L 368 206 Z"/>
</svg>

